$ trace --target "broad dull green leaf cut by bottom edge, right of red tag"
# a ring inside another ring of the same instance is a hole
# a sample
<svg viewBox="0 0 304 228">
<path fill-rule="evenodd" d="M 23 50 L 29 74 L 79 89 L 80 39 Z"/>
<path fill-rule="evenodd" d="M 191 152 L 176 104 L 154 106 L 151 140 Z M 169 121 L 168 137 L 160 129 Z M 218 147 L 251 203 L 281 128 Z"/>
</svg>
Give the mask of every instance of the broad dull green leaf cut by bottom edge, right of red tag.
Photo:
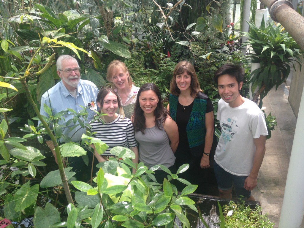
<svg viewBox="0 0 304 228">
<path fill-rule="evenodd" d="M 54 223 L 60 222 L 60 213 L 51 203 L 47 202 L 45 209 L 36 208 L 34 215 L 35 228 L 51 228 Z"/>
</svg>

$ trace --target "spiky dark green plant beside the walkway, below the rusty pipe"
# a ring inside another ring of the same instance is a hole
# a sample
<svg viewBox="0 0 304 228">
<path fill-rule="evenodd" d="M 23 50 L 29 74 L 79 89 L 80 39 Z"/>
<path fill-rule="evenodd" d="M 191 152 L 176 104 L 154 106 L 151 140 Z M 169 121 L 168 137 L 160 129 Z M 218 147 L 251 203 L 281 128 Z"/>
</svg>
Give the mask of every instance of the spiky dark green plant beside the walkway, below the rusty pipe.
<svg viewBox="0 0 304 228">
<path fill-rule="evenodd" d="M 288 77 L 290 65 L 294 66 L 294 61 L 301 66 L 301 54 L 299 45 L 281 25 L 274 27 L 274 23 L 271 23 L 265 28 L 262 21 L 261 27 L 258 28 L 250 22 L 248 24 L 250 32 L 244 33 L 248 37 L 244 45 L 250 45 L 254 53 L 247 57 L 252 63 L 260 64 L 260 68 L 250 73 L 252 92 L 254 93 L 256 87 L 259 87 L 253 99 L 257 101 L 259 95 L 263 99 L 274 86 L 277 90 Z"/>
</svg>

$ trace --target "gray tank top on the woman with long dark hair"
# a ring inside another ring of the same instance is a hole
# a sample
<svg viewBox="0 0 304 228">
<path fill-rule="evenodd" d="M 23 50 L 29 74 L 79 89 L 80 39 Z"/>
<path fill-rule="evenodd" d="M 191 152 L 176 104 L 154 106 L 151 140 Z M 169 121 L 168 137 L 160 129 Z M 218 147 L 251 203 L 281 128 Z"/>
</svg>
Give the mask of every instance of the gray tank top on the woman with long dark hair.
<svg viewBox="0 0 304 228">
<path fill-rule="evenodd" d="M 148 168 L 158 164 L 167 168 L 174 165 L 175 156 L 163 126 L 161 130 L 156 126 L 146 128 L 144 133 L 141 133 L 141 131 L 135 132 L 135 138 L 139 143 L 139 161 L 143 162 Z"/>
</svg>

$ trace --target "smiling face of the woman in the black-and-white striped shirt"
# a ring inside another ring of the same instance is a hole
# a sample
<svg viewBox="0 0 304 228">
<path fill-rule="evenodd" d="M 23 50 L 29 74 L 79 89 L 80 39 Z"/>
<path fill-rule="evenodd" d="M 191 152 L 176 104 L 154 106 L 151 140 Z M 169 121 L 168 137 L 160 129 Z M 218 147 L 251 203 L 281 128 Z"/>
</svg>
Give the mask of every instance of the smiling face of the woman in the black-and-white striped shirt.
<svg viewBox="0 0 304 228">
<path fill-rule="evenodd" d="M 118 100 L 114 93 L 109 92 L 103 99 L 103 104 L 97 102 L 97 105 L 101 109 L 102 113 L 108 115 L 107 118 L 111 118 L 113 120 L 116 118 L 115 112 L 118 109 Z"/>
</svg>

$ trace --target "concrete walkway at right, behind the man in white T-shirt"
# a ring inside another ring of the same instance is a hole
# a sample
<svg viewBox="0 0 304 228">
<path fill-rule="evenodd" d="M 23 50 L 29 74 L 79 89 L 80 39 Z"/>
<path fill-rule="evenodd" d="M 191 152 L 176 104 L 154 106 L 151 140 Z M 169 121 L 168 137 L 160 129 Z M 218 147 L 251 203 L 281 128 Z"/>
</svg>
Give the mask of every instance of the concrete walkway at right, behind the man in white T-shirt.
<svg viewBox="0 0 304 228">
<path fill-rule="evenodd" d="M 255 200 L 261 202 L 263 214 L 278 228 L 289 158 L 297 119 L 288 103 L 289 81 L 277 91 L 273 88 L 263 99 L 263 109 L 276 117 L 278 128 L 266 141 L 266 154 L 258 175 L 257 188 L 252 191 Z M 292 218 L 291 218 L 292 219 Z M 304 228 L 304 223 L 302 223 Z"/>
</svg>

